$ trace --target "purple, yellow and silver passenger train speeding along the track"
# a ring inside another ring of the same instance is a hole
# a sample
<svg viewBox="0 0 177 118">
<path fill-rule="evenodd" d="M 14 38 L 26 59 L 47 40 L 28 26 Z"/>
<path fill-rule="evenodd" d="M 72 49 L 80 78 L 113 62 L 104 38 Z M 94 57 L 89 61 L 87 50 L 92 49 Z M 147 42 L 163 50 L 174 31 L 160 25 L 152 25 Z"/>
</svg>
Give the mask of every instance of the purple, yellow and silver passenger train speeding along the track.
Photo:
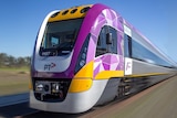
<svg viewBox="0 0 177 118">
<path fill-rule="evenodd" d="M 79 114 L 177 74 L 177 65 L 101 3 L 50 12 L 31 60 L 30 107 Z"/>
</svg>

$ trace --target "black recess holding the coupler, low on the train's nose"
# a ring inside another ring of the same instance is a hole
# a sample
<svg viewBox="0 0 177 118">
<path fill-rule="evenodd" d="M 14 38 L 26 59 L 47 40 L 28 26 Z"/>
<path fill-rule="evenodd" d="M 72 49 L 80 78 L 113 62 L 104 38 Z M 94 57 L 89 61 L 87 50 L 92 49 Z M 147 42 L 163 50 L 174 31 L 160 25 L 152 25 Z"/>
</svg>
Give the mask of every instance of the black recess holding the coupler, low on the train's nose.
<svg viewBox="0 0 177 118">
<path fill-rule="evenodd" d="M 62 101 L 65 99 L 71 79 L 38 79 L 34 82 L 34 96 L 41 101 Z"/>
</svg>

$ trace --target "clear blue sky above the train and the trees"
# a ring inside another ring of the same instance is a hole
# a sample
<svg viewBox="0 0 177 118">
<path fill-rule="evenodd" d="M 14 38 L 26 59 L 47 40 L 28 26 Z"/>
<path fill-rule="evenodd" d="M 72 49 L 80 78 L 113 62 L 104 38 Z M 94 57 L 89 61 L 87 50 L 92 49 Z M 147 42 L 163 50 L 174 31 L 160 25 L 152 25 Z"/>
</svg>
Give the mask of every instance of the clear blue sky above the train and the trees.
<svg viewBox="0 0 177 118">
<path fill-rule="evenodd" d="M 31 55 L 38 30 L 49 12 L 97 2 L 117 11 L 177 62 L 176 0 L 1 0 L 0 53 Z"/>
</svg>

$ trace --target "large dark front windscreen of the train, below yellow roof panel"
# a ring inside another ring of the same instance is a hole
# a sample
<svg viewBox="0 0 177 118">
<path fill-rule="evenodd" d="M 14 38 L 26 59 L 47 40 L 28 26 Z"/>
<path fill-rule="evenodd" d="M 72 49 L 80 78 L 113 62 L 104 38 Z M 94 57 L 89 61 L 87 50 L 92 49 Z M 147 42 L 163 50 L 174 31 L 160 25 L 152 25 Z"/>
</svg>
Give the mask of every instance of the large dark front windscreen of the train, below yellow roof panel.
<svg viewBox="0 0 177 118">
<path fill-rule="evenodd" d="M 69 54 L 74 46 L 83 19 L 49 22 L 40 47 L 41 56 Z"/>
</svg>

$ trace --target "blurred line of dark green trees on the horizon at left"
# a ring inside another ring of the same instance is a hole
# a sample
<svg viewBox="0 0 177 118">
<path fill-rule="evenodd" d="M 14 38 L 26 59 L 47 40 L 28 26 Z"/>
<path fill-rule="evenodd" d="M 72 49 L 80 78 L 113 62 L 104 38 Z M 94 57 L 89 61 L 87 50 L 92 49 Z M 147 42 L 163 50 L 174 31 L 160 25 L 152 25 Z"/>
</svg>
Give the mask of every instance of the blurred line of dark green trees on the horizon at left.
<svg viewBox="0 0 177 118">
<path fill-rule="evenodd" d="M 14 57 L 7 53 L 0 53 L 0 67 L 23 67 L 30 66 L 31 57 Z"/>
</svg>

